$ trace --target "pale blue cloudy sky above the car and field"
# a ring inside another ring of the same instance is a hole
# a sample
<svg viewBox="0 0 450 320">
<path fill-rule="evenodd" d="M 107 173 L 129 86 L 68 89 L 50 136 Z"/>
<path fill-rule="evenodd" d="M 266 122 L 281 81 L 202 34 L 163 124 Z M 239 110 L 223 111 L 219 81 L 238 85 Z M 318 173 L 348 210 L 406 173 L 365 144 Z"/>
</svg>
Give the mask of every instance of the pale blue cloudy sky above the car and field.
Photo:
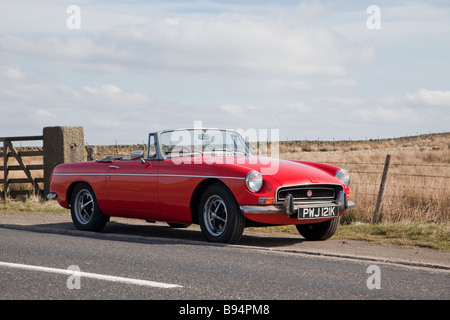
<svg viewBox="0 0 450 320">
<path fill-rule="evenodd" d="M 137 144 L 195 123 L 448 132 L 450 3 L 1 1 L 0 137 L 83 126 L 87 144 Z"/>
</svg>

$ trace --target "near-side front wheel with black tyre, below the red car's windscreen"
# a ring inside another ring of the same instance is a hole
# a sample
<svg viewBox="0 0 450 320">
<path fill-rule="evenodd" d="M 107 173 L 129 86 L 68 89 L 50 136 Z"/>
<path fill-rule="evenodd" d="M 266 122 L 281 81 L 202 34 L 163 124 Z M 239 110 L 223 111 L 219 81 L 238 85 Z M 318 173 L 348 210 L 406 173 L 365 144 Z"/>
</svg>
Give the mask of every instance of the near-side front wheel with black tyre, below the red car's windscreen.
<svg viewBox="0 0 450 320">
<path fill-rule="evenodd" d="M 245 217 L 228 188 L 213 184 L 200 199 L 199 223 L 206 240 L 236 243 L 244 233 Z"/>
</svg>

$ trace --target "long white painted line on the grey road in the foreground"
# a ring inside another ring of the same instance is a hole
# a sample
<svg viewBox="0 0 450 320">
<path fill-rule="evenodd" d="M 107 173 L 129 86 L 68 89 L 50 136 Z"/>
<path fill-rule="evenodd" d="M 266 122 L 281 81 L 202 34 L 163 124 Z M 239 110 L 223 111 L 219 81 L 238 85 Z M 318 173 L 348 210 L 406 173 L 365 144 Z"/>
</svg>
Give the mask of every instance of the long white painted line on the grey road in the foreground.
<svg viewBox="0 0 450 320">
<path fill-rule="evenodd" d="M 74 271 L 74 270 L 69 270 L 69 269 L 56 269 L 56 268 L 48 268 L 48 267 L 41 267 L 41 266 L 32 266 L 32 265 L 20 264 L 20 263 L 10 263 L 10 262 L 1 262 L 0 261 L 0 267 L 57 273 L 57 274 L 64 274 L 64 275 L 68 275 L 68 276 L 77 275 L 77 276 L 85 277 L 85 278 L 92 278 L 92 279 L 113 281 L 113 282 L 122 282 L 122 283 L 127 283 L 127 284 L 135 284 L 135 285 L 140 285 L 140 286 L 149 286 L 149 287 L 164 288 L 164 289 L 182 288 L 182 286 L 177 285 L 177 284 L 155 282 L 155 281 L 148 281 L 148 280 L 141 280 L 141 279 L 124 278 L 124 277 L 115 277 L 115 276 L 109 276 L 109 275 L 104 275 L 104 274 Z"/>
</svg>

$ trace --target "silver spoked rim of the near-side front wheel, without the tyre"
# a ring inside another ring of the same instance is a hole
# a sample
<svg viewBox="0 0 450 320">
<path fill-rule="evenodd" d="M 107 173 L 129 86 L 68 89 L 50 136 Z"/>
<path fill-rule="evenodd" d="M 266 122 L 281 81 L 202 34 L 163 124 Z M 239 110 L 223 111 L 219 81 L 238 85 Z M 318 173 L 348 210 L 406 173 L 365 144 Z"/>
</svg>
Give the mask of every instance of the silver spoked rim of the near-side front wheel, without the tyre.
<svg viewBox="0 0 450 320">
<path fill-rule="evenodd" d="M 227 207 L 223 199 L 217 195 L 208 198 L 203 208 L 205 227 L 213 236 L 220 236 L 227 225 Z"/>
</svg>

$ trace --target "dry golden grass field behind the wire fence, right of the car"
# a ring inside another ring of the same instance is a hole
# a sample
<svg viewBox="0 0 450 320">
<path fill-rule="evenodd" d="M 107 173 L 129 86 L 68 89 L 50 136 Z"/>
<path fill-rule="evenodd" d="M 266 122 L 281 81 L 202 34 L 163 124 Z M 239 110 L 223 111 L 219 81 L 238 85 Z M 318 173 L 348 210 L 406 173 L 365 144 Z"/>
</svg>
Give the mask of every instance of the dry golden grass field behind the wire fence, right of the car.
<svg viewBox="0 0 450 320">
<path fill-rule="evenodd" d="M 317 151 L 305 152 L 305 146 Z M 356 206 L 344 215 L 343 223 L 372 220 L 387 154 L 391 154 L 391 166 L 382 221 L 449 221 L 450 133 L 319 145 L 300 141 L 280 146 L 282 159 L 325 162 L 349 170 Z"/>
</svg>

